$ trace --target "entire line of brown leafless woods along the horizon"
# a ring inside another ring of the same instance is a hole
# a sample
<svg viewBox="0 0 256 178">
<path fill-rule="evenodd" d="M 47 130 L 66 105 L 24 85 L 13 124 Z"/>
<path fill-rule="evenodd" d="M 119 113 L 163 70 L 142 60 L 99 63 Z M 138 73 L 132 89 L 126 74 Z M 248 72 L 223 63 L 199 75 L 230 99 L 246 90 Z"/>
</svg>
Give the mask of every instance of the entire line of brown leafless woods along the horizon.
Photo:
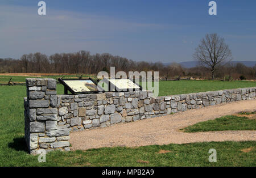
<svg viewBox="0 0 256 178">
<path fill-rule="evenodd" d="M 109 71 L 110 66 L 115 71 L 159 71 L 160 77 L 200 77 L 212 78 L 209 68 L 197 66 L 190 69 L 184 68 L 179 63 L 164 65 L 161 62 L 137 62 L 125 57 L 113 56 L 109 53 L 90 54 L 81 50 L 77 53 L 56 53 L 47 56 L 42 53 L 24 54 L 19 60 L 0 58 L 0 73 L 71 73 L 71 74 L 97 74 L 99 71 Z M 246 79 L 256 78 L 256 65 L 246 67 L 242 63 L 232 65 L 222 64 L 214 69 L 217 79 L 239 79 L 243 75 Z"/>
</svg>

